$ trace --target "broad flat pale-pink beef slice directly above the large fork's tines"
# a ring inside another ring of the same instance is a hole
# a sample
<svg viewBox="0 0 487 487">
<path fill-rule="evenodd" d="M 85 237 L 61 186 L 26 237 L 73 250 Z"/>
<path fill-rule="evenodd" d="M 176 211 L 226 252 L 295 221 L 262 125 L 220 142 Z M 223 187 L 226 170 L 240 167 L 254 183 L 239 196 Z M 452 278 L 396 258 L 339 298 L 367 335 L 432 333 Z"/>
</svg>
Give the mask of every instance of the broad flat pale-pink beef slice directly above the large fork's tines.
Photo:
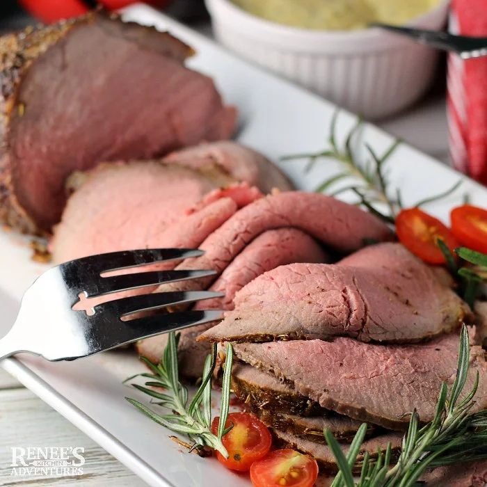
<svg viewBox="0 0 487 487">
<path fill-rule="evenodd" d="M 54 229 L 54 262 L 161 247 L 168 225 L 214 187 L 198 171 L 159 161 L 98 166 L 70 196 Z"/>
</svg>

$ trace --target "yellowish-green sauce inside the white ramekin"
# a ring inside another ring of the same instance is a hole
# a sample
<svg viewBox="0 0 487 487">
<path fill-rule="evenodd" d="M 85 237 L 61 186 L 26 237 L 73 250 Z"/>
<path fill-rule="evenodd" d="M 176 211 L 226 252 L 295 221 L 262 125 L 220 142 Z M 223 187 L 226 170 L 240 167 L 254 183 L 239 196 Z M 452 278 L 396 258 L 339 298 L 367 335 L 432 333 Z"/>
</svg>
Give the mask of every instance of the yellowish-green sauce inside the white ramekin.
<svg viewBox="0 0 487 487">
<path fill-rule="evenodd" d="M 442 0 L 232 0 L 248 13 L 287 26 L 365 29 L 371 22 L 405 24 Z"/>
</svg>

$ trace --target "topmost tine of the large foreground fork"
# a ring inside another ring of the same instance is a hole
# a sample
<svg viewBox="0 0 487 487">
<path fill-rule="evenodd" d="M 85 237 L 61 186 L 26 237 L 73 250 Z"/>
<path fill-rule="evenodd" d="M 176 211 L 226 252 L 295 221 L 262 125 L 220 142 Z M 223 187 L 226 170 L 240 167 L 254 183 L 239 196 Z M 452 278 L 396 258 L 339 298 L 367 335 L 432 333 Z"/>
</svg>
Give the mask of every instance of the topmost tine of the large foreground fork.
<svg viewBox="0 0 487 487">
<path fill-rule="evenodd" d="M 86 269 L 86 273 L 102 273 L 138 267 L 145 264 L 156 264 L 168 260 L 200 257 L 204 252 L 193 248 L 146 248 L 143 250 L 123 250 L 101 255 L 91 255 L 61 264 L 61 271 Z M 93 277 L 92 277 L 93 278 Z"/>
</svg>

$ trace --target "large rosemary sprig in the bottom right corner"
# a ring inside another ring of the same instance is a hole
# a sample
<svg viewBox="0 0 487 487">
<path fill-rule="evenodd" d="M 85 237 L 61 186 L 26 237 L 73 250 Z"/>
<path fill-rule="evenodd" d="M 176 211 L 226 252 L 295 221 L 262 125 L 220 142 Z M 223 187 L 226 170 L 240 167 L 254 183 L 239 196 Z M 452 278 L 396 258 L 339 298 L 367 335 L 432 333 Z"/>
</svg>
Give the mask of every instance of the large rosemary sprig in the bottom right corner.
<svg viewBox="0 0 487 487">
<path fill-rule="evenodd" d="M 360 451 L 365 426 L 360 427 L 346 457 L 333 435 L 324 431 L 326 442 L 340 469 L 332 487 L 413 487 L 420 485 L 418 481 L 428 468 L 487 458 L 487 410 L 470 414 L 479 385 L 478 372 L 474 387 L 466 397 L 460 399 L 467 381 L 469 362 L 468 330 L 463 326 L 456 378 L 451 390 L 448 392 L 447 384 L 442 384 L 435 417 L 426 426 L 420 426 L 420 417 L 413 411 L 399 460 L 392 467 L 389 444 L 385 454 L 378 451 L 376 461 L 365 454 L 360 479 L 355 482 L 352 467 Z"/>
</svg>

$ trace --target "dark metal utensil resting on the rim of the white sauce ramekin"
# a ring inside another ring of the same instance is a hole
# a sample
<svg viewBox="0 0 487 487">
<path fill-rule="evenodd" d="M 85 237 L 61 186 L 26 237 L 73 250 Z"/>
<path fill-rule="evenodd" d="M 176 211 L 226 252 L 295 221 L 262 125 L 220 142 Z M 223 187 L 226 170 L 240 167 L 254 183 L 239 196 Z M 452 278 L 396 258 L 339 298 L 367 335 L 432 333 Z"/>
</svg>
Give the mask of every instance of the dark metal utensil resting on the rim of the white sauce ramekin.
<svg viewBox="0 0 487 487">
<path fill-rule="evenodd" d="M 412 27 L 399 27 L 389 24 L 374 23 L 371 27 L 380 27 L 388 31 L 406 35 L 408 38 L 442 51 L 455 52 L 463 59 L 487 56 L 487 38 L 454 35 L 447 32 L 427 31 L 413 29 Z"/>
</svg>

